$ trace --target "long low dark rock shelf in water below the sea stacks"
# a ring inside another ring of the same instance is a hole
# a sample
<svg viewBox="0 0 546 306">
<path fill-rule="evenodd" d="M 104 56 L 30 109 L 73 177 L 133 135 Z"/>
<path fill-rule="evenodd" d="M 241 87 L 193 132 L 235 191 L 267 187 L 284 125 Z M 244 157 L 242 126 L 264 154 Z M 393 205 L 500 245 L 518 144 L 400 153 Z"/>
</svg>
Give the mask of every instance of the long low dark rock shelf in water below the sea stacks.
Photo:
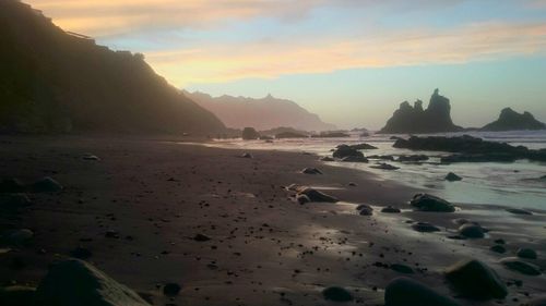
<svg viewBox="0 0 546 306">
<path fill-rule="evenodd" d="M 399 138 L 393 147 L 412 150 L 447 151 L 456 155 L 441 158 L 442 162 L 511 162 L 518 159 L 546 161 L 546 149 L 533 150 L 523 146 L 506 143 L 486 142 L 468 135 L 458 137 L 417 137 Z"/>
</svg>

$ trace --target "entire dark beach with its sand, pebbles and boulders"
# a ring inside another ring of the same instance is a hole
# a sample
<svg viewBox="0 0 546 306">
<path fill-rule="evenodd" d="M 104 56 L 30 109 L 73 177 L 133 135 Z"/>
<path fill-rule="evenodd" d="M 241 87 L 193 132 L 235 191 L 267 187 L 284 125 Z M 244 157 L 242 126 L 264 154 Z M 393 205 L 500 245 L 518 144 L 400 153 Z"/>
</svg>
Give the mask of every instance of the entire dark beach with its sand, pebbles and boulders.
<svg viewBox="0 0 546 306">
<path fill-rule="evenodd" d="M 4 304 L 544 304 L 545 211 L 449 203 L 306 154 L 1 144 Z"/>
</svg>

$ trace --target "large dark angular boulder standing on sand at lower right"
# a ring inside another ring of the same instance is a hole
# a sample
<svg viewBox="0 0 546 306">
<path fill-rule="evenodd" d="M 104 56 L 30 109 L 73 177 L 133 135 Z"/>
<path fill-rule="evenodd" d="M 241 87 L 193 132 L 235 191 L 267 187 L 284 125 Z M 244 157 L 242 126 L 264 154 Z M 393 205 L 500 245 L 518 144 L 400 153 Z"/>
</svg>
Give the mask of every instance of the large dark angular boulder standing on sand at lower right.
<svg viewBox="0 0 546 306">
<path fill-rule="evenodd" d="M 461 260 L 446 270 L 446 278 L 463 295 L 477 299 L 503 298 L 507 286 L 499 276 L 476 259 Z"/>
</svg>

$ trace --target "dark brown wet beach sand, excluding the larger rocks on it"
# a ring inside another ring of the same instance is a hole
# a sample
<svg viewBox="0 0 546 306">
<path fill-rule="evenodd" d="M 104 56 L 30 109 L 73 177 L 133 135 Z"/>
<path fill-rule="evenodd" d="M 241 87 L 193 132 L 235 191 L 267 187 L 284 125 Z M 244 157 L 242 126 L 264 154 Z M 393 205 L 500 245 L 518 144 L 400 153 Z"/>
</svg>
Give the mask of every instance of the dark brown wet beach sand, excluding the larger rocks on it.
<svg viewBox="0 0 546 306">
<path fill-rule="evenodd" d="M 407 200 L 420 191 L 302 154 L 260 150 L 246 159 L 242 150 L 136 137 L 0 140 L 0 179 L 49 175 L 64 186 L 29 194 L 33 206 L 1 216 L 0 230 L 35 233 L 32 244 L 0 254 L 3 284 L 35 285 L 50 262 L 82 246 L 93 253 L 88 261 L 151 294 L 155 305 L 328 305 L 320 292 L 330 285 L 349 289 L 355 304 L 382 305 L 383 289 L 401 273 L 377 262 L 407 265 L 416 271 L 412 278 L 453 296 L 441 271 L 467 257 L 485 261 L 507 282 L 523 281 L 509 286 L 503 305 L 520 305 L 546 287 L 544 273 L 523 276 L 498 264 L 519 247 L 532 247 L 538 253 L 533 264 L 545 270 L 544 211 L 517 216 L 495 206 L 458 205 L 453 213 L 415 212 Z M 83 160 L 85 154 L 100 160 Z M 299 173 L 306 167 L 324 174 Z M 284 188 L 289 184 L 327 187 L 342 203 L 298 205 Z M 358 216 L 357 204 L 375 206 L 373 216 Z M 388 205 L 403 212 L 379 211 Z M 490 231 L 479 240 L 448 238 L 458 218 Z M 442 231 L 415 232 L 408 219 Z M 108 230 L 119 237 L 106 237 Z M 211 240 L 197 242 L 195 234 Z M 498 238 L 507 241 L 506 254 L 489 250 Z M 14 260 L 23 265 L 14 268 Z M 165 282 L 182 285 L 174 301 L 157 289 Z"/>
</svg>

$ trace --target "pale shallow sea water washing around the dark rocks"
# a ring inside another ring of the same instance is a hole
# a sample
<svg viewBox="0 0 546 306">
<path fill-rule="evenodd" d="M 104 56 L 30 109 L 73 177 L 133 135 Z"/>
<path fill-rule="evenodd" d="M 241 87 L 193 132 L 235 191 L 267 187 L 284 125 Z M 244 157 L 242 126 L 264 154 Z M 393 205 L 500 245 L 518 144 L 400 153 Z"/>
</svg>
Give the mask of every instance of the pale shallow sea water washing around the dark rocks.
<svg viewBox="0 0 546 306">
<path fill-rule="evenodd" d="M 546 131 L 518 132 L 464 132 L 434 134 L 435 136 L 472 135 L 490 142 L 502 142 L 514 146 L 525 146 L 530 149 L 546 148 Z M 392 135 L 372 134 L 363 137 L 352 133 L 345 138 L 298 138 L 278 139 L 273 143 L 263 140 L 217 139 L 210 146 L 237 149 L 268 149 L 283 151 L 311 152 L 320 157 L 331 156 L 331 149 L 341 144 L 367 143 L 378 147 L 373 150 L 363 150 L 370 155 L 415 155 L 423 154 L 430 159 L 423 163 L 402 163 L 388 161 L 400 167 L 399 170 L 379 170 L 370 168 L 369 163 L 328 162 L 336 167 L 346 167 L 377 174 L 377 180 L 392 180 L 401 184 L 424 189 L 427 193 L 440 196 L 459 204 L 502 205 L 517 208 L 546 209 L 546 180 L 538 180 L 546 175 L 546 162 L 518 160 L 515 162 L 462 162 L 440 164 L 440 157 L 448 155 L 438 151 L 415 151 L 393 148 Z M 396 135 L 407 137 L 408 135 Z M 430 135 L 419 135 L 430 136 Z M 305 166 L 302 166 L 305 167 Z M 463 178 L 459 182 L 448 182 L 443 178 L 453 172 Z"/>
</svg>

